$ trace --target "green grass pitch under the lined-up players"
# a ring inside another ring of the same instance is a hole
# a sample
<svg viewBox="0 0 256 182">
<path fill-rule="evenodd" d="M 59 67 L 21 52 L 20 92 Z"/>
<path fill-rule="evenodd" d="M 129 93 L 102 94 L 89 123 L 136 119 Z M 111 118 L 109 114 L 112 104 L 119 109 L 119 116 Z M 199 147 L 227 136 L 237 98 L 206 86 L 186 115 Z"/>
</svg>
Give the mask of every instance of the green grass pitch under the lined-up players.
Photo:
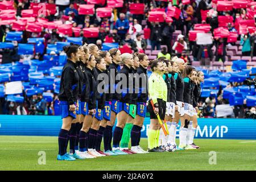
<svg viewBox="0 0 256 182">
<path fill-rule="evenodd" d="M 0 136 L 0 170 L 256 170 L 255 140 L 195 139 L 195 143 L 201 149 L 67 162 L 56 160 L 57 137 Z M 146 149 L 147 139 L 141 146 Z M 38 164 L 39 151 L 46 152 L 45 165 Z M 216 152 L 217 164 L 209 164 L 210 151 Z"/>
</svg>

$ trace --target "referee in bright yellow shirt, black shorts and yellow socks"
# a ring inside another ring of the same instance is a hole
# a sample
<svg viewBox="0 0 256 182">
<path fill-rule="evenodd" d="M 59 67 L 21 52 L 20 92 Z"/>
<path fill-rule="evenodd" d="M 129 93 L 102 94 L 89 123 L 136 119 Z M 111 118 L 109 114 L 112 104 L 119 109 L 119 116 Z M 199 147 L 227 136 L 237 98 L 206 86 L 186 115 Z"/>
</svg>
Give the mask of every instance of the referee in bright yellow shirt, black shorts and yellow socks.
<svg viewBox="0 0 256 182">
<path fill-rule="evenodd" d="M 156 117 L 156 114 L 159 114 L 160 119 L 163 120 L 166 114 L 167 85 L 163 79 L 163 62 L 153 60 L 150 62 L 150 68 L 152 74 L 148 78 L 148 95 L 150 98 L 147 106 L 147 110 L 150 113 L 148 152 L 163 152 L 163 150 L 159 148 L 160 125 Z"/>
</svg>

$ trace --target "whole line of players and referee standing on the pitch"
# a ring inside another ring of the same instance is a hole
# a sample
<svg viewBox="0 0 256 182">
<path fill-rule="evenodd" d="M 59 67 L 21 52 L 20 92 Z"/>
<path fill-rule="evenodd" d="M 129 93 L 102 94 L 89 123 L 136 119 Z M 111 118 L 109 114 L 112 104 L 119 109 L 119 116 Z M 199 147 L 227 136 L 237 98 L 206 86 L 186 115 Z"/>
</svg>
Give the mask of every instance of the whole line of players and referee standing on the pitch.
<svg viewBox="0 0 256 182">
<path fill-rule="evenodd" d="M 203 72 L 185 65 L 184 60 L 177 57 L 148 61 L 144 53 L 121 55 L 117 48 L 99 51 L 95 44 L 71 44 L 63 49 L 68 61 L 61 74 L 59 104 L 63 125 L 57 160 L 199 148 L 193 138 Z M 152 71 L 149 78 L 148 67 Z M 107 81 L 99 79 L 102 74 L 108 75 Z M 117 87 L 123 81 L 118 79 L 121 74 L 127 79 L 118 92 Z M 103 88 L 99 89 L 99 85 Z M 145 151 L 139 143 L 147 110 L 150 127 Z M 177 146 L 179 120 L 180 144 Z M 104 150 L 101 150 L 102 139 Z M 128 148 L 130 139 L 131 148 Z"/>
</svg>

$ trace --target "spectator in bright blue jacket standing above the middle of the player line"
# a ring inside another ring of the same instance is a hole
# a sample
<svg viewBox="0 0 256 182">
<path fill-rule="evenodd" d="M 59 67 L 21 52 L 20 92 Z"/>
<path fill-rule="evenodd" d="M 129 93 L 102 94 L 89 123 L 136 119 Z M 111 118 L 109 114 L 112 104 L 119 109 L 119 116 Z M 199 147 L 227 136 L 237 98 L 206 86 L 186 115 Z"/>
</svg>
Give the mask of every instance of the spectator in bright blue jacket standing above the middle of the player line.
<svg viewBox="0 0 256 182">
<path fill-rule="evenodd" d="M 117 28 L 117 34 L 120 36 L 121 40 L 125 39 L 125 35 L 129 30 L 129 21 L 125 18 L 125 14 L 121 13 L 119 19 L 115 23 L 115 28 Z"/>
</svg>

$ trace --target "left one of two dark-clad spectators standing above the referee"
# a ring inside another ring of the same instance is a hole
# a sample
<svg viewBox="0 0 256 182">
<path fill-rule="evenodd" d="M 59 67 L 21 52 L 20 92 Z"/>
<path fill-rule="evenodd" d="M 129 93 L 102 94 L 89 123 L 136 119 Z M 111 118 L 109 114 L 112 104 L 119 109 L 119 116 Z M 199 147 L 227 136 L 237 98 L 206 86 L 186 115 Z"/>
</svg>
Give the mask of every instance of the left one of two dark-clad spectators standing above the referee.
<svg viewBox="0 0 256 182">
<path fill-rule="evenodd" d="M 148 22 L 148 27 L 150 28 L 150 42 L 151 42 L 151 51 L 160 50 L 160 45 L 163 40 L 162 37 L 162 26 L 159 22 Z"/>
</svg>

